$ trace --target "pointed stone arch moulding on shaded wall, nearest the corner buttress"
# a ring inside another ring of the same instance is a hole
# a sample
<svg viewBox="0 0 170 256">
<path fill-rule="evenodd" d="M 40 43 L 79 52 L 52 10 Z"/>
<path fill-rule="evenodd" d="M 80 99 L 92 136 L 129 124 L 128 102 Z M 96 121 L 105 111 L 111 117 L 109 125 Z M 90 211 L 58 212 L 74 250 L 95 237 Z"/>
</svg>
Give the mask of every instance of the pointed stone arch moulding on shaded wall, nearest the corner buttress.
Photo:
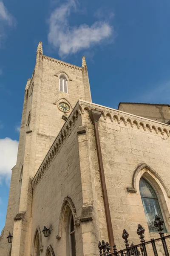
<svg viewBox="0 0 170 256">
<path fill-rule="evenodd" d="M 67 217 L 67 215 L 69 215 L 70 210 L 74 218 L 74 225 L 76 227 L 80 225 L 80 220 L 79 218 L 77 218 L 77 212 L 73 201 L 71 200 L 71 198 L 65 197 L 59 214 L 58 235 L 56 236 L 57 239 L 60 239 L 62 236 L 62 222 L 63 219 Z"/>
</svg>

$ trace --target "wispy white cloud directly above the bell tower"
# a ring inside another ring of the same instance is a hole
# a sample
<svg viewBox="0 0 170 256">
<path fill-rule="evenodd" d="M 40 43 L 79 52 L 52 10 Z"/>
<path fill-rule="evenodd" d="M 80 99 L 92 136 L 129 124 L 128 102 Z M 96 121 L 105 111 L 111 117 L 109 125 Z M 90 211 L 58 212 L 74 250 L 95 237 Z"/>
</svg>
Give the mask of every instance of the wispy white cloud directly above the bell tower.
<svg viewBox="0 0 170 256">
<path fill-rule="evenodd" d="M 91 26 L 69 26 L 68 17 L 72 10 L 77 11 L 77 3 L 76 0 L 69 0 L 56 8 L 49 19 L 48 42 L 59 49 L 60 56 L 87 49 L 113 34 L 113 27 L 106 21 L 97 21 Z"/>
</svg>

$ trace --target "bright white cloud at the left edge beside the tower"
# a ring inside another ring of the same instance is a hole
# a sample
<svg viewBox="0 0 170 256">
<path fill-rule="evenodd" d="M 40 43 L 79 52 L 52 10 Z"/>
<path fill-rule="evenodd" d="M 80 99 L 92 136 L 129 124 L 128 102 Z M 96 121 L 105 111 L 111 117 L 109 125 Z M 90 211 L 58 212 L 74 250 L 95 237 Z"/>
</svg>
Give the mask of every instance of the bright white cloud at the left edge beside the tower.
<svg viewBox="0 0 170 256">
<path fill-rule="evenodd" d="M 0 139 L 0 181 L 9 183 L 11 169 L 17 161 L 18 141 L 10 138 Z"/>
</svg>

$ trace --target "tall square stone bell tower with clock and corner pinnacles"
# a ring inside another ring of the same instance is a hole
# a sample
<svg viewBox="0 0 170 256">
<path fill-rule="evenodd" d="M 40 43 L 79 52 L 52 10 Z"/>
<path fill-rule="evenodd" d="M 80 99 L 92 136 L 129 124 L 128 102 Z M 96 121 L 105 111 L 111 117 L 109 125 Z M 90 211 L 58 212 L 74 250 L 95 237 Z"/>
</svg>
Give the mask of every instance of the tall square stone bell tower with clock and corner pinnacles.
<svg viewBox="0 0 170 256">
<path fill-rule="evenodd" d="M 30 256 L 32 178 L 78 99 L 91 102 L 85 56 L 82 67 L 43 55 L 37 47 L 34 72 L 25 88 L 17 163 L 12 169 L 0 255 Z M 13 235 L 12 248 L 6 237 Z"/>
</svg>

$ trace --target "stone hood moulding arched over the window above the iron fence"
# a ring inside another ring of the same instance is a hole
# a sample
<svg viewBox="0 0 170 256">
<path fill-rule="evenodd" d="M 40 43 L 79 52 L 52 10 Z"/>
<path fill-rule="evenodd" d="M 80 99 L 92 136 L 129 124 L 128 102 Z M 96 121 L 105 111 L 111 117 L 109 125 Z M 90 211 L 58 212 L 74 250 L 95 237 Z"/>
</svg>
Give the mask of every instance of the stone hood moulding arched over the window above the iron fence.
<svg viewBox="0 0 170 256">
<path fill-rule="evenodd" d="M 143 170 L 143 172 L 141 172 Z M 170 191 L 165 186 L 164 181 L 162 180 L 161 176 L 150 166 L 148 166 L 146 163 L 142 163 L 139 165 L 136 170 L 133 173 L 132 177 L 132 186 L 127 187 L 127 192 L 136 193 L 137 192 L 137 180 L 140 180 L 142 176 L 150 175 L 157 179 L 157 183 L 160 183 L 160 185 L 163 187 L 164 191 L 167 194 L 167 197 L 170 198 Z M 148 177 L 150 177 L 148 176 Z"/>
</svg>

